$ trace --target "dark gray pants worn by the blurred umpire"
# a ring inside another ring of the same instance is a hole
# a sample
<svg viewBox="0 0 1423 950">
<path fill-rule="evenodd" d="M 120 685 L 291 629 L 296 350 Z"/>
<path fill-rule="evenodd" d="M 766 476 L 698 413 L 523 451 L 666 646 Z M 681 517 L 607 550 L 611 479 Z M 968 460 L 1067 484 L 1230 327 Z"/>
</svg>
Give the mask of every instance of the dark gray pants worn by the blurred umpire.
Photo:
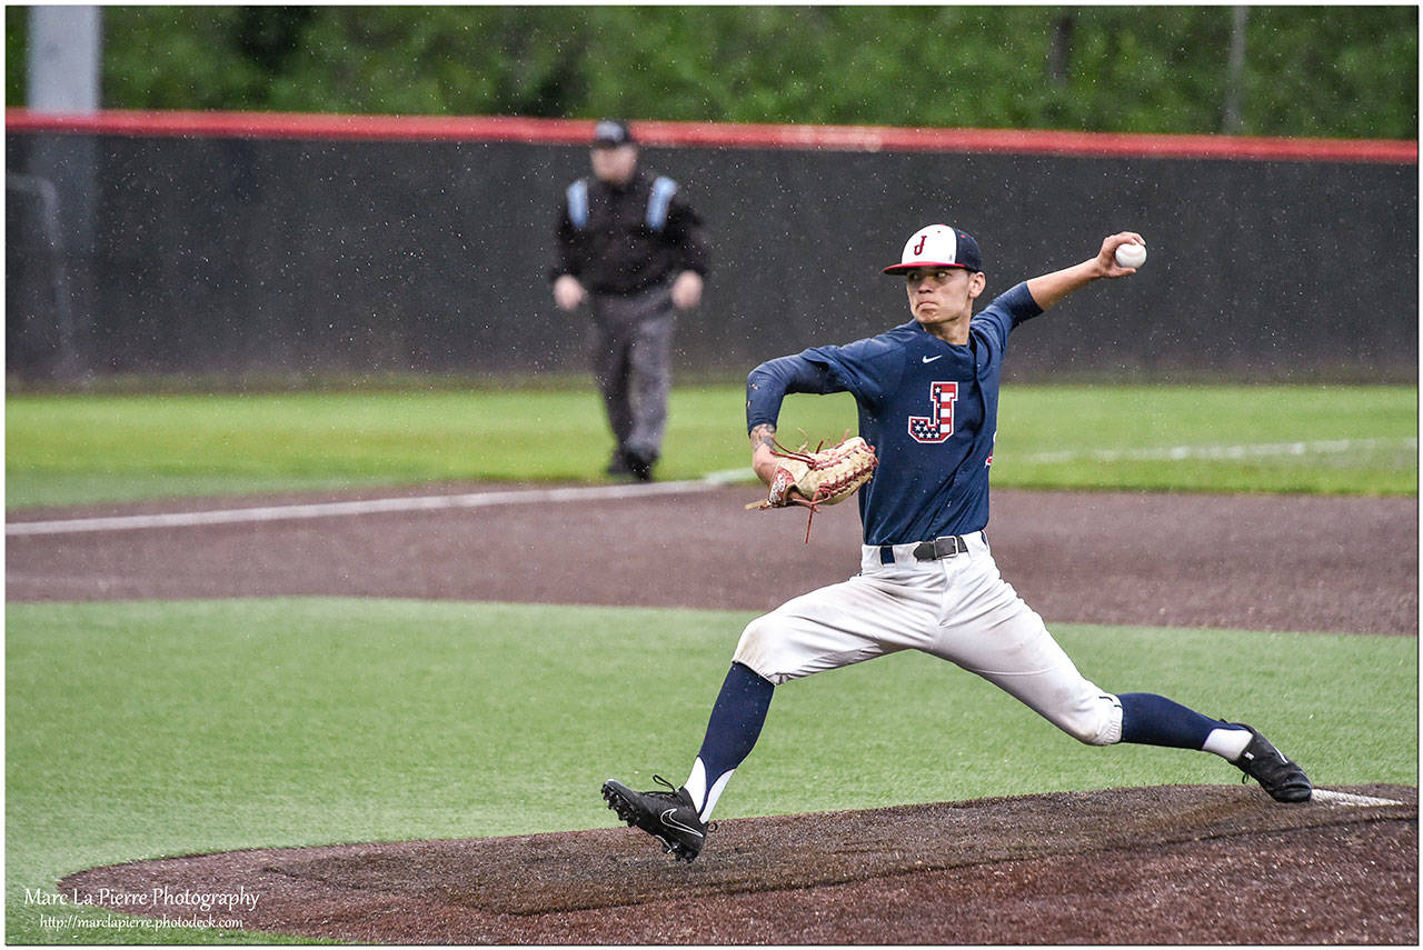
<svg viewBox="0 0 1423 950">
<path fill-rule="evenodd" d="M 626 297 L 589 294 L 593 380 L 620 452 L 653 461 L 662 454 L 672 390 L 676 311 L 667 284 Z"/>
</svg>

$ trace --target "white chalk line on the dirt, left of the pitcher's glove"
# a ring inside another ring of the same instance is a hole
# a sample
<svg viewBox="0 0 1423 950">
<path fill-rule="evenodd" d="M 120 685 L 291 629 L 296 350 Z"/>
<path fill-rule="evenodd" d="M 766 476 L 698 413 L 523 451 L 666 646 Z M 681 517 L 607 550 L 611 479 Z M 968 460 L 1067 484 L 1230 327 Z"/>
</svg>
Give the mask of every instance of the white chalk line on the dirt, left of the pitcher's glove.
<svg viewBox="0 0 1423 950">
<path fill-rule="evenodd" d="M 63 521 L 11 522 L 4 526 L 7 538 L 21 535 L 68 535 L 94 530 L 139 530 L 147 528 L 196 528 L 202 525 L 235 525 L 240 522 L 295 521 L 305 518 L 346 518 L 386 512 L 428 512 L 454 508 L 492 508 L 498 505 L 556 505 L 561 502 L 618 501 L 656 495 L 684 495 L 720 488 L 739 478 L 716 472 L 699 481 L 650 482 L 638 485 L 591 485 L 579 488 L 532 488 L 508 492 L 474 492 L 468 495 L 423 495 L 416 498 L 373 498 L 353 502 L 320 502 L 309 505 L 266 505 L 262 508 L 226 508 L 196 512 L 165 512 L 157 515 L 118 515 L 112 518 L 70 518 Z"/>
</svg>

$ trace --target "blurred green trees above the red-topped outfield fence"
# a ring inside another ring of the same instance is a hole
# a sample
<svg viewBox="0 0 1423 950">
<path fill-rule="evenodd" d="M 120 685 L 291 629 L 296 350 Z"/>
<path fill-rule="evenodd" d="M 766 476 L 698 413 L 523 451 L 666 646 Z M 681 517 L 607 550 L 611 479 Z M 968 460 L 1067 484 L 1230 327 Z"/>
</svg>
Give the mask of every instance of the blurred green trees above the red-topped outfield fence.
<svg viewBox="0 0 1423 950">
<path fill-rule="evenodd" d="M 1416 6 L 101 16 L 107 108 L 1417 137 Z M 26 101 L 26 21 L 6 9 L 7 105 Z"/>
</svg>

